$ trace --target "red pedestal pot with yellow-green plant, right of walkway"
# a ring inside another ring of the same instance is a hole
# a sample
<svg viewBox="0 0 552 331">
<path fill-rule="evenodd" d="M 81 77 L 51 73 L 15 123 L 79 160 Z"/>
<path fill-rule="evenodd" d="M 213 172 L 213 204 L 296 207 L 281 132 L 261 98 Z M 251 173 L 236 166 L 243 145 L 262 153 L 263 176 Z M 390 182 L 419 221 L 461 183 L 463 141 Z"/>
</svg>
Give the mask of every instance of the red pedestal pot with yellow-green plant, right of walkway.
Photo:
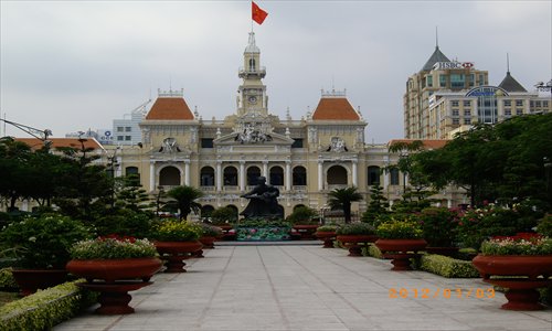
<svg viewBox="0 0 552 331">
<path fill-rule="evenodd" d="M 383 257 L 392 259 L 392 270 L 412 270 L 410 259 L 425 249 L 427 242 L 422 238 L 423 231 L 414 221 L 391 220 L 380 224 L 375 231 L 379 239 L 375 246 Z"/>
</svg>

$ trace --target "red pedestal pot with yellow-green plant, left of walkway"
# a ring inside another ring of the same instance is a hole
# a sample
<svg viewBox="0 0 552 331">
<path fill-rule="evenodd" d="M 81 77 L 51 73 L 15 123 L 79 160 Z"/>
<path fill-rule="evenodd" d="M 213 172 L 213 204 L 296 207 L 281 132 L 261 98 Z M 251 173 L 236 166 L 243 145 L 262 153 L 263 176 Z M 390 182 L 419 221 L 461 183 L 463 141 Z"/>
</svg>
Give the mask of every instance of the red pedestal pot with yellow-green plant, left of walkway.
<svg viewBox="0 0 552 331">
<path fill-rule="evenodd" d="M 163 220 L 153 225 L 152 237 L 161 258 L 167 259 L 166 273 L 185 273 L 184 259 L 200 250 L 199 224 L 178 220 Z"/>
</svg>

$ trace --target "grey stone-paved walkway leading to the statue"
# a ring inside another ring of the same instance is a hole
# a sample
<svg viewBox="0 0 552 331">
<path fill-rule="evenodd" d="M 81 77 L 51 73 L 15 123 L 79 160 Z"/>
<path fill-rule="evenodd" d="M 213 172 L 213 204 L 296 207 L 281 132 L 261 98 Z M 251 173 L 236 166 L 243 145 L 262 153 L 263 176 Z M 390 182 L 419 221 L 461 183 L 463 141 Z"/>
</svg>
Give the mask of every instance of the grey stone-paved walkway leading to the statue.
<svg viewBox="0 0 552 331">
<path fill-rule="evenodd" d="M 551 308 L 501 310 L 502 293 L 476 298 L 477 289 L 484 296 L 489 289 L 479 279 L 390 266 L 320 246 L 219 246 L 189 260 L 189 273 L 156 275 L 153 285 L 131 292 L 136 313 L 91 309 L 54 330 L 552 330 Z M 401 288 L 407 298 L 390 298 Z"/>
</svg>

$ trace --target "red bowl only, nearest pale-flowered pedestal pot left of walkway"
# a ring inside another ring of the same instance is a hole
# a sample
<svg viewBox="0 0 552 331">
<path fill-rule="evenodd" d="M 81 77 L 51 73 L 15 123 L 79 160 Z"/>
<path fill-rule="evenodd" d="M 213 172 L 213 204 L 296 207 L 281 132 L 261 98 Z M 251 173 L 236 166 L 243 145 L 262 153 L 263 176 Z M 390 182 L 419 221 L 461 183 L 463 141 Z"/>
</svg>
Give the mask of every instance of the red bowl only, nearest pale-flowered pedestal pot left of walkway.
<svg viewBox="0 0 552 331">
<path fill-rule="evenodd" d="M 102 279 L 115 282 L 120 279 L 141 279 L 149 281 L 161 269 L 162 261 L 157 257 L 123 259 L 72 259 L 66 269 L 71 274 L 84 277 L 88 282 Z"/>
</svg>

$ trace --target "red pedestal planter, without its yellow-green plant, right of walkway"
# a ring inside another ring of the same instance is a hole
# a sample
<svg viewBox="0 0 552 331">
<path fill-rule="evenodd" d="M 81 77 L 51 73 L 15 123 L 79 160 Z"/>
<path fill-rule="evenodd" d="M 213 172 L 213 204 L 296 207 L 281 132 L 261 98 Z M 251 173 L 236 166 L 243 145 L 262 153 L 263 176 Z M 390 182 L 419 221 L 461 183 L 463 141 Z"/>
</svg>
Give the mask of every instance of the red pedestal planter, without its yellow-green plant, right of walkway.
<svg viewBox="0 0 552 331">
<path fill-rule="evenodd" d="M 424 239 L 378 239 L 375 246 L 383 253 L 384 258 L 391 259 L 394 271 L 412 270 L 411 258 L 420 256 L 427 242 Z"/>
</svg>

